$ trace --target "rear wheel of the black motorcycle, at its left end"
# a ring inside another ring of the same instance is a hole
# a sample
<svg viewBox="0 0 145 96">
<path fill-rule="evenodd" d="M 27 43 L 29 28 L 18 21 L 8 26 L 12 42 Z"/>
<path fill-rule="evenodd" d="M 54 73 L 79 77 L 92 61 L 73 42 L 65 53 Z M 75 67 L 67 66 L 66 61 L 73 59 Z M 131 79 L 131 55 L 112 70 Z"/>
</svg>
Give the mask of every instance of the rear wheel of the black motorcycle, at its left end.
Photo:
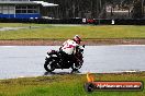
<svg viewBox="0 0 145 96">
<path fill-rule="evenodd" d="M 47 72 L 53 72 L 55 70 L 55 60 L 54 59 L 46 59 L 44 63 L 44 69 Z"/>
</svg>

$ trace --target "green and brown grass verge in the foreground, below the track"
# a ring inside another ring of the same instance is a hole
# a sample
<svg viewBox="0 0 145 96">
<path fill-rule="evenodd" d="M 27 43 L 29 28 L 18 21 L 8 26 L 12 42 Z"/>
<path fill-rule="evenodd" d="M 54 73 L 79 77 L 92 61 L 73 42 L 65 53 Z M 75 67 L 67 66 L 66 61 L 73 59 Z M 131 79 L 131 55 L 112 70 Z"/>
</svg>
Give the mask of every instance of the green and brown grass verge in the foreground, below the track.
<svg viewBox="0 0 145 96">
<path fill-rule="evenodd" d="M 94 74 L 96 81 L 143 81 L 145 72 Z M 92 92 L 87 93 L 83 74 L 24 77 L 0 81 L 0 96 L 144 96 L 143 92 Z"/>
</svg>

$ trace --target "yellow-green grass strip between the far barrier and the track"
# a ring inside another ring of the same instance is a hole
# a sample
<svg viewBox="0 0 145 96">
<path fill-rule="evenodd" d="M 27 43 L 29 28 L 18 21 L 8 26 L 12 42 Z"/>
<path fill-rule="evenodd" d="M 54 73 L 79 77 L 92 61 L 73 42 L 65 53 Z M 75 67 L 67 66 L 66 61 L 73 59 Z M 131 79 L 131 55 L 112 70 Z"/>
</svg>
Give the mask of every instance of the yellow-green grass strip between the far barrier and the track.
<svg viewBox="0 0 145 96">
<path fill-rule="evenodd" d="M 78 34 L 82 39 L 145 38 L 145 26 L 135 25 L 83 25 L 54 26 L 49 24 L 0 24 L 0 26 L 40 26 L 19 31 L 0 32 L 0 39 L 67 39 Z"/>
</svg>

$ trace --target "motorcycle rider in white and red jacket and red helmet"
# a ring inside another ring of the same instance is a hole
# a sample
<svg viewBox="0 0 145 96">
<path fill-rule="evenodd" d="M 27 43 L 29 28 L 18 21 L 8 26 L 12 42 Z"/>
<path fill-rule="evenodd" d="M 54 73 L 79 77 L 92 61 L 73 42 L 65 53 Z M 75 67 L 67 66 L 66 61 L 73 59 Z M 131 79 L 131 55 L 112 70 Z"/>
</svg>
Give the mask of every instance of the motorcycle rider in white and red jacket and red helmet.
<svg viewBox="0 0 145 96">
<path fill-rule="evenodd" d="M 63 44 L 60 50 L 67 55 L 75 55 L 77 51 L 77 47 L 79 47 L 80 41 L 81 38 L 78 35 L 75 35 L 72 39 L 68 39 Z"/>
</svg>

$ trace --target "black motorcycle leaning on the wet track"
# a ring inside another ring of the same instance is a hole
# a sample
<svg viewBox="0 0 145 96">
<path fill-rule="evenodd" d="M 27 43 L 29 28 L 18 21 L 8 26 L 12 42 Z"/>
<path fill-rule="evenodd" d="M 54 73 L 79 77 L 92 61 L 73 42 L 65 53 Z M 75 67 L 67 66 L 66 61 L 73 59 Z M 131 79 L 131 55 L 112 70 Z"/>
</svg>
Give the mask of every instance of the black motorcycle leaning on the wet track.
<svg viewBox="0 0 145 96">
<path fill-rule="evenodd" d="M 47 72 L 53 72 L 55 69 L 63 70 L 69 68 L 71 68 L 72 71 L 78 71 L 83 63 L 83 48 L 85 45 L 81 47 L 77 47 L 75 55 L 66 55 L 60 50 L 52 50 L 47 52 L 44 69 Z"/>
</svg>

